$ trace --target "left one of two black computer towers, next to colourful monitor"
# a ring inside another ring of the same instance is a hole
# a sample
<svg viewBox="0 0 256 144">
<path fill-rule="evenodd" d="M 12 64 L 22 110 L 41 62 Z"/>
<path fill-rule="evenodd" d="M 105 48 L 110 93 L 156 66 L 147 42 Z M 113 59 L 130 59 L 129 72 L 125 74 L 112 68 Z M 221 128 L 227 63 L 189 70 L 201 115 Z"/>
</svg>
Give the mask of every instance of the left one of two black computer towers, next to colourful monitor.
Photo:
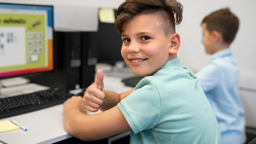
<svg viewBox="0 0 256 144">
<path fill-rule="evenodd" d="M 55 70 L 62 77 L 60 87 L 71 90 L 80 87 L 81 33 L 56 32 Z"/>
</svg>

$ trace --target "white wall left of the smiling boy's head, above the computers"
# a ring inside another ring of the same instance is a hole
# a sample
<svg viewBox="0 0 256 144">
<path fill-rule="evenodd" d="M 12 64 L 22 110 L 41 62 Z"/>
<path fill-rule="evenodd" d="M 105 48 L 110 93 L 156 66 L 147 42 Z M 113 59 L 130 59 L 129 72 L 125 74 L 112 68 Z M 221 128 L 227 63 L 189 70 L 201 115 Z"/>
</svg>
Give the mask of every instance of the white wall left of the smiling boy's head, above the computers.
<svg viewBox="0 0 256 144">
<path fill-rule="evenodd" d="M 55 31 L 97 31 L 98 8 L 117 8 L 122 0 L 0 0 L 7 3 L 54 5 Z"/>
</svg>

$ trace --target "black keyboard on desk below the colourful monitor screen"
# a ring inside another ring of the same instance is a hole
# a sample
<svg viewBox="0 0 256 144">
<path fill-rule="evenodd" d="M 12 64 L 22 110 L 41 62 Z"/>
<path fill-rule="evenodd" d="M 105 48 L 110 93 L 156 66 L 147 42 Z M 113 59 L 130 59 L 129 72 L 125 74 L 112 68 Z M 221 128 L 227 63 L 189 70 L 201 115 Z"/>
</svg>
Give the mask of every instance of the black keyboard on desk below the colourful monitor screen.
<svg viewBox="0 0 256 144">
<path fill-rule="evenodd" d="M 0 118 L 16 116 L 31 111 L 59 105 L 72 96 L 60 88 L 52 88 L 0 99 Z"/>
</svg>

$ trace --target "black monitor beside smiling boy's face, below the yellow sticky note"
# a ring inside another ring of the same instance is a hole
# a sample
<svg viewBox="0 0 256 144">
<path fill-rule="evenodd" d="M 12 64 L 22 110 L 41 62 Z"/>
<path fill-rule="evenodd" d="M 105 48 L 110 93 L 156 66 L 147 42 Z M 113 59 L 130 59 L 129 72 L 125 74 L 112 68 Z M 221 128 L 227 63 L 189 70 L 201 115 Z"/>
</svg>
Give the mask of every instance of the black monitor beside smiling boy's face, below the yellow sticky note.
<svg viewBox="0 0 256 144">
<path fill-rule="evenodd" d="M 114 9 L 116 18 L 116 9 Z M 116 31 L 115 23 L 104 23 L 99 20 L 98 32 L 98 63 L 115 64 L 122 61 L 121 56 L 122 39 L 121 34 Z"/>
</svg>

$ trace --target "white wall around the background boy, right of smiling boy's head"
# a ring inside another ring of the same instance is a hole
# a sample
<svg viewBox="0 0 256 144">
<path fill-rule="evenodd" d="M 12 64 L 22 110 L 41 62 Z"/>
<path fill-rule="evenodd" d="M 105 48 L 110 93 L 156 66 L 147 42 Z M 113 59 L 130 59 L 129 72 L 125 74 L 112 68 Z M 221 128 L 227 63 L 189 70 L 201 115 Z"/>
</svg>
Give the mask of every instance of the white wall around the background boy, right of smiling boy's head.
<svg viewBox="0 0 256 144">
<path fill-rule="evenodd" d="M 240 96 L 246 110 L 247 126 L 256 127 L 256 1 L 254 0 L 180 0 L 184 6 L 183 21 L 177 26 L 182 45 L 178 56 L 194 71 L 205 66 L 211 55 L 205 54 L 201 43 L 201 21 L 214 10 L 229 7 L 240 19 L 236 39 L 231 45 L 240 67 Z"/>
</svg>

